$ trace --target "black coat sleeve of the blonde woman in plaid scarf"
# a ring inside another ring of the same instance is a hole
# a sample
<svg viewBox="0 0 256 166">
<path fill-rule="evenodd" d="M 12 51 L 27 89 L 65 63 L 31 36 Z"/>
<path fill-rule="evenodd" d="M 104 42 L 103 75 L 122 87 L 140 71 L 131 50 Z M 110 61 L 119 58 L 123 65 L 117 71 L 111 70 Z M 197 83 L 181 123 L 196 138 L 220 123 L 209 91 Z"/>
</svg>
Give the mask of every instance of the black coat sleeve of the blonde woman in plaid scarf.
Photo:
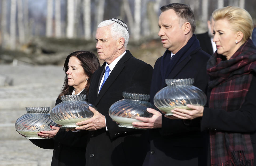
<svg viewBox="0 0 256 166">
<path fill-rule="evenodd" d="M 256 131 L 256 77 L 253 76 L 251 86 L 241 109 L 226 112 L 221 109 L 204 108 L 201 130 L 219 130 L 239 133 Z"/>
</svg>

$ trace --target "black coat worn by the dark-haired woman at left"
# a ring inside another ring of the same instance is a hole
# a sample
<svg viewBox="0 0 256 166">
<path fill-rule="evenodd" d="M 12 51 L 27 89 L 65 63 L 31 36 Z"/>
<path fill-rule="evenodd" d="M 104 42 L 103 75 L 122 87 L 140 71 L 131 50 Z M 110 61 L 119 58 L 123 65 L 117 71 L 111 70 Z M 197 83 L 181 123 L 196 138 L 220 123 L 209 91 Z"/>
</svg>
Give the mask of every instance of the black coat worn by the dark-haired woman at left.
<svg viewBox="0 0 256 166">
<path fill-rule="evenodd" d="M 83 90 L 81 94 L 86 94 Z M 62 100 L 57 98 L 56 104 Z M 85 144 L 87 132 L 66 132 L 59 129 L 54 138 L 51 139 L 30 139 L 30 141 L 43 149 L 53 149 L 51 166 L 82 166 L 85 165 Z"/>
</svg>

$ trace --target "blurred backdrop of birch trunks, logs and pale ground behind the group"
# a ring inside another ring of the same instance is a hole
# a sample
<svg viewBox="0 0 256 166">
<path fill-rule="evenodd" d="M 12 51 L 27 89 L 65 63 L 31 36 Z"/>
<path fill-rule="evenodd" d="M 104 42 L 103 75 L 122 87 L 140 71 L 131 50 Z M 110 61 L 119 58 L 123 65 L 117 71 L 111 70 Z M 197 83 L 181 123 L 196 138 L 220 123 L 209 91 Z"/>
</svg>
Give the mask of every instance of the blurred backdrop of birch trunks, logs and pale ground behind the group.
<svg viewBox="0 0 256 166">
<path fill-rule="evenodd" d="M 208 31 L 216 8 L 239 6 L 256 19 L 255 0 L 1 0 L 0 166 L 50 165 L 52 150 L 19 135 L 15 121 L 25 107 L 54 107 L 67 55 L 77 50 L 97 54 L 95 32 L 103 20 L 123 20 L 130 33 L 127 49 L 154 66 L 165 52 L 158 36 L 159 8 L 169 3 L 192 8 L 196 34 Z"/>
</svg>

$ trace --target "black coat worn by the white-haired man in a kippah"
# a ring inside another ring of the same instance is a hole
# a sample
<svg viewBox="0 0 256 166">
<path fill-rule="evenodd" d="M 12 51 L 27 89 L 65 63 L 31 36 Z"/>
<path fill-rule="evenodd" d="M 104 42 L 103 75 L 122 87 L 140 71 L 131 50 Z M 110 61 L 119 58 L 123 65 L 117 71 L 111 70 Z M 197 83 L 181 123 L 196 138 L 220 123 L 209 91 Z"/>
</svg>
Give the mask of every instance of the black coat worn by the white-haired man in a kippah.
<svg viewBox="0 0 256 166">
<path fill-rule="evenodd" d="M 142 165 L 147 145 L 145 130 L 118 127 L 109 116 L 109 108 L 123 99 L 123 91 L 149 94 L 153 68 L 126 50 L 98 94 L 105 64 L 92 76 L 88 101 L 106 117 L 108 131 L 105 128 L 89 131 L 84 155 L 86 166 Z"/>
</svg>

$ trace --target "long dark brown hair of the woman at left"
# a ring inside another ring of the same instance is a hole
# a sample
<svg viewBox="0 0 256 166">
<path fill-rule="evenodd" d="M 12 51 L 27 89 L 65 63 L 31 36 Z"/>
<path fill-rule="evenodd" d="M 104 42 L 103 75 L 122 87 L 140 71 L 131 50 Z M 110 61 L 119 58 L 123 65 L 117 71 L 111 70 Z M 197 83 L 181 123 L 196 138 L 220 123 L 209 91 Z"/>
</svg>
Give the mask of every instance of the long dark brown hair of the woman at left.
<svg viewBox="0 0 256 166">
<path fill-rule="evenodd" d="M 79 59 L 80 65 L 83 67 L 85 74 L 89 77 L 85 87 L 86 93 L 88 93 L 89 91 L 91 76 L 93 75 L 94 71 L 100 67 L 99 59 L 94 53 L 90 51 L 76 51 L 69 54 L 69 56 L 67 56 L 65 60 L 64 67 L 63 67 L 66 77 L 65 77 L 65 81 L 64 81 L 61 93 L 59 94 L 59 99 L 60 99 L 60 96 L 71 95 L 74 90 L 73 86 L 68 85 L 67 73 L 66 73 L 67 70 L 69 70 L 68 64 L 69 64 L 70 57 L 76 57 L 77 59 Z"/>
</svg>

